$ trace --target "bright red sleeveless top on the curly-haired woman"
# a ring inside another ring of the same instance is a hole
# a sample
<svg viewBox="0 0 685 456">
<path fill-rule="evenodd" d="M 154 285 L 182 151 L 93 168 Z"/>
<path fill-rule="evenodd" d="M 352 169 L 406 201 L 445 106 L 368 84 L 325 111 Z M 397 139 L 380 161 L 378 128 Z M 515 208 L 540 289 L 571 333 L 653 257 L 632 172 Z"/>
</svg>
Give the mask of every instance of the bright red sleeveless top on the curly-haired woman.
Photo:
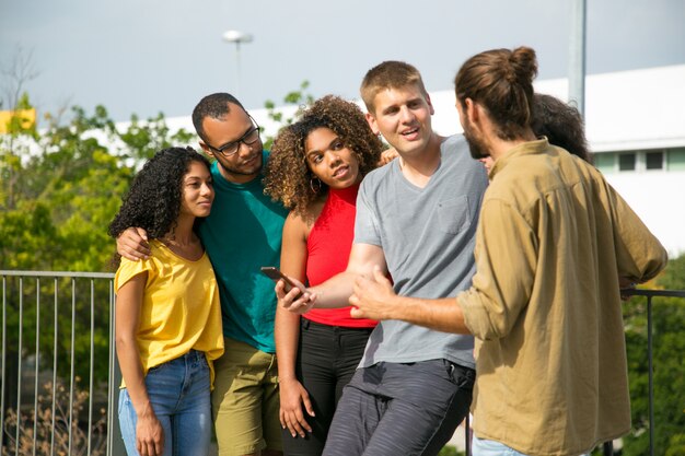
<svg viewBox="0 0 685 456">
<path fill-rule="evenodd" d="M 355 239 L 355 215 L 359 185 L 329 189 L 324 208 L 306 239 L 306 279 L 310 287 L 330 279 L 347 268 Z M 378 321 L 350 316 L 350 307 L 314 308 L 303 315 L 312 321 L 348 328 L 373 328 Z"/>
</svg>

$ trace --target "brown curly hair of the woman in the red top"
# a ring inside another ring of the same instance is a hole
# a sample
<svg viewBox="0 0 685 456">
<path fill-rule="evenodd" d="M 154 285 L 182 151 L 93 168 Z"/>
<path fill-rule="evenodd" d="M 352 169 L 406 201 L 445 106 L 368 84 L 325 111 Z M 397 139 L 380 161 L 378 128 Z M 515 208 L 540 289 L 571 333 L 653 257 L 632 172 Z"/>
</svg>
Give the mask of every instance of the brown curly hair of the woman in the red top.
<svg viewBox="0 0 685 456">
<path fill-rule="evenodd" d="M 314 102 L 297 122 L 278 133 L 264 177 L 264 192 L 300 215 L 320 196 L 311 188 L 311 179 L 316 176 L 304 153 L 307 136 L 317 128 L 329 128 L 340 138 L 357 157 L 362 176 L 378 166 L 383 151 L 382 141 L 371 131 L 359 106 L 335 95 Z M 326 188 L 322 183 L 322 189 Z"/>
</svg>

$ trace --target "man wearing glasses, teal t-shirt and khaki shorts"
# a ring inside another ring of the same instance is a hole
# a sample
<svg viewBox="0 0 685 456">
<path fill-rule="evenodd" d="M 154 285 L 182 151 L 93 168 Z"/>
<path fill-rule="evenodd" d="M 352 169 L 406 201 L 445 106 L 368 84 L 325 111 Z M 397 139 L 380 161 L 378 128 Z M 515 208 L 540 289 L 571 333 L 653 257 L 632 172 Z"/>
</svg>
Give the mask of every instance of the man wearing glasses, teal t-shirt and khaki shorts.
<svg viewBox="0 0 685 456">
<path fill-rule="evenodd" d="M 287 210 L 264 195 L 257 122 L 228 93 L 204 97 L 193 110 L 200 147 L 213 159 L 214 204 L 198 233 L 221 295 L 224 355 L 214 361 L 212 412 L 219 455 L 281 455 L 274 283 L 259 272 L 278 266 Z M 135 230 L 117 239 L 119 254 L 144 258 Z"/>
</svg>

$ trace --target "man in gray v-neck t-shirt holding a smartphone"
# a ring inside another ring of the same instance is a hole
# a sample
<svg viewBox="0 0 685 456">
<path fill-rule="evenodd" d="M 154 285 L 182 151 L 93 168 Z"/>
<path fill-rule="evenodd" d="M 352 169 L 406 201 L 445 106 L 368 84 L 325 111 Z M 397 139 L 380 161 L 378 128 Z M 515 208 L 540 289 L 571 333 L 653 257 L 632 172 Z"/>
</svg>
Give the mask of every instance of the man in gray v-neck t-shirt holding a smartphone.
<svg viewBox="0 0 685 456">
<path fill-rule="evenodd" d="M 387 272 L 405 296 L 448 299 L 471 285 L 483 166 L 463 137 L 432 131 L 433 107 L 416 68 L 383 62 L 367 73 L 361 94 L 371 129 L 399 157 L 361 185 L 347 270 L 312 289 L 276 287 L 292 312 L 353 304 L 360 277 Z M 345 387 L 324 455 L 437 455 L 468 412 L 472 351 L 469 336 L 381 321 Z"/>
</svg>

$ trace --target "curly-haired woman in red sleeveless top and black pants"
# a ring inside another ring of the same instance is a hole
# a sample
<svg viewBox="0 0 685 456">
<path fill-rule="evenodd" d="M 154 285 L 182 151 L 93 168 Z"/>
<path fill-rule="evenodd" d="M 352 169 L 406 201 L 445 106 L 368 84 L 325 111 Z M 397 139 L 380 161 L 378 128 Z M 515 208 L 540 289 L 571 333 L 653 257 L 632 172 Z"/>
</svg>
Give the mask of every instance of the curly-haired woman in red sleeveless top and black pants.
<svg viewBox="0 0 685 456">
<path fill-rule="evenodd" d="M 362 177 L 383 144 L 353 103 L 328 95 L 283 129 L 267 165 L 266 192 L 291 209 L 283 226 L 282 271 L 315 285 L 347 267 Z M 286 455 L 321 455 L 342 387 L 375 321 L 350 307 L 300 317 L 279 306 L 276 352 Z"/>
</svg>

